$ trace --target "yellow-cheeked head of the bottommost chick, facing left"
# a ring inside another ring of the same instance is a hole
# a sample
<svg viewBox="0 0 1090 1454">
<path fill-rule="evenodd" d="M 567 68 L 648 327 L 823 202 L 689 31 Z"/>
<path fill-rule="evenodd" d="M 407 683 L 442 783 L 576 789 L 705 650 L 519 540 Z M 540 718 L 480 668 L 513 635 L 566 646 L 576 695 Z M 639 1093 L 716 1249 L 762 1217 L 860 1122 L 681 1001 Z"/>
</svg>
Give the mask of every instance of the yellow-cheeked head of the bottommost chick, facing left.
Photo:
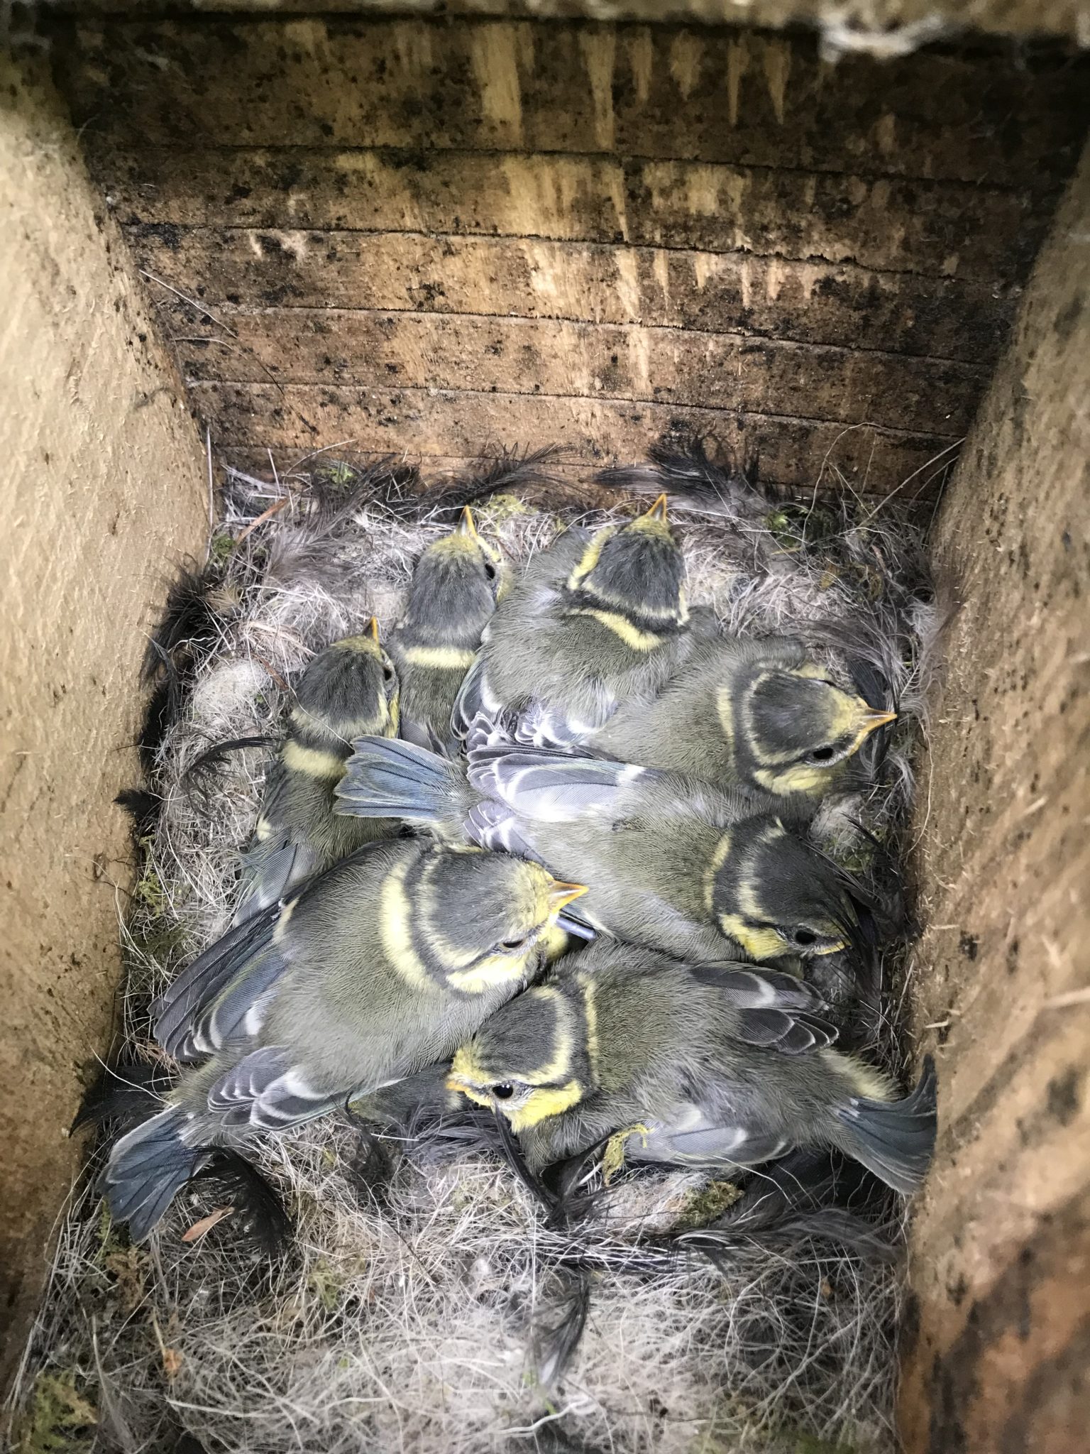
<svg viewBox="0 0 1090 1454">
<path fill-rule="evenodd" d="M 593 1089 L 584 1008 L 554 984 L 526 990 L 461 1047 L 446 1085 L 528 1131 Z"/>
</svg>

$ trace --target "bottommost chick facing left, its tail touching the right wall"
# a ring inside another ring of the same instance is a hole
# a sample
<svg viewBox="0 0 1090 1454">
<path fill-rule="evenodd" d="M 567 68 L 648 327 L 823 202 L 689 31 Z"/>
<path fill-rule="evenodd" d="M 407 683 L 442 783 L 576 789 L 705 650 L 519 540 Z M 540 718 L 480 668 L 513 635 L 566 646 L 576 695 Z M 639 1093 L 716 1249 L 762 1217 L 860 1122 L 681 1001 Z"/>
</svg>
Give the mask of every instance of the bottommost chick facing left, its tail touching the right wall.
<svg viewBox="0 0 1090 1454">
<path fill-rule="evenodd" d="M 879 1070 L 830 1048 L 804 992 L 603 941 L 504 1005 L 448 1083 L 504 1115 L 533 1169 L 629 1131 L 638 1160 L 754 1166 L 827 1146 L 916 1191 L 934 1147 L 933 1069 L 894 1099 Z"/>
</svg>

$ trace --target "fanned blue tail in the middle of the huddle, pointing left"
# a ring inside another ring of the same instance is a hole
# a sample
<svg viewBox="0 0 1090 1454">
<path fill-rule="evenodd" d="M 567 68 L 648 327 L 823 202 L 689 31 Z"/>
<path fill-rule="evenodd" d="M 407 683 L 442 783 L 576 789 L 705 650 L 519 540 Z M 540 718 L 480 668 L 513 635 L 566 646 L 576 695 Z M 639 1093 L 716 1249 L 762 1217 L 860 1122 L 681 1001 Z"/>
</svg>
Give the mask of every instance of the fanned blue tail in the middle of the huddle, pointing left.
<svg viewBox="0 0 1090 1454">
<path fill-rule="evenodd" d="M 337 784 L 337 813 L 430 823 L 462 836 L 471 803 L 465 769 L 411 742 L 360 737 Z"/>
</svg>

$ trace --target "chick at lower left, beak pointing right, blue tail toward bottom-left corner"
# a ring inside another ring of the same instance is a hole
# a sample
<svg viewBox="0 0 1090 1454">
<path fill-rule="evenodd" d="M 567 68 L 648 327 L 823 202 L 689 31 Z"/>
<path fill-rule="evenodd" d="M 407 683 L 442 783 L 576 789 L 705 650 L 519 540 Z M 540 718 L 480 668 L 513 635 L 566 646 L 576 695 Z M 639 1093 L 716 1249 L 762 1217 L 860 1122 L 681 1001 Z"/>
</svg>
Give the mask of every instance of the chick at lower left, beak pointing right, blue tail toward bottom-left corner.
<svg viewBox="0 0 1090 1454">
<path fill-rule="evenodd" d="M 498 853 L 372 843 L 201 955 L 154 1006 L 186 1069 L 113 1147 L 103 1194 L 135 1240 L 221 1144 L 410 1076 L 539 971 L 583 888 Z"/>
</svg>

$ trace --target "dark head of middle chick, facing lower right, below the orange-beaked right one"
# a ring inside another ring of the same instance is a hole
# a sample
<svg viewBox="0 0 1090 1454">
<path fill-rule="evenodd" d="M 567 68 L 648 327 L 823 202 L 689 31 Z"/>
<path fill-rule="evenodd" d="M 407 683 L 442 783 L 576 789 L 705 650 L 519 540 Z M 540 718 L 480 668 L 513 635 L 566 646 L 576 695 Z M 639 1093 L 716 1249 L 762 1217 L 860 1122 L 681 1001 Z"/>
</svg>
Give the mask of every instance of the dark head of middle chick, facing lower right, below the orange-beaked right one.
<svg viewBox="0 0 1090 1454">
<path fill-rule="evenodd" d="M 722 932 L 759 963 L 834 954 L 859 936 L 843 872 L 770 814 L 722 835 L 705 871 L 705 903 Z"/>
</svg>

